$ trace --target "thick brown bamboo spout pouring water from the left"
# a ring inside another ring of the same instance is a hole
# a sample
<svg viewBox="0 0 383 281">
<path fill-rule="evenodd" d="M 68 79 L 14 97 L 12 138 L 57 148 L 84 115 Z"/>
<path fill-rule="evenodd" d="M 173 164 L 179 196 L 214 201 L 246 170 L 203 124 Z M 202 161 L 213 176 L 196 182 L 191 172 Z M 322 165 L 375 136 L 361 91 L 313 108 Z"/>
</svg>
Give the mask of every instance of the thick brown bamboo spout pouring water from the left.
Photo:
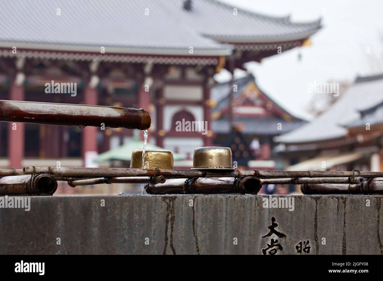
<svg viewBox="0 0 383 281">
<path fill-rule="evenodd" d="M 143 109 L 0 100 L 0 121 L 146 130 L 151 118 Z"/>
</svg>

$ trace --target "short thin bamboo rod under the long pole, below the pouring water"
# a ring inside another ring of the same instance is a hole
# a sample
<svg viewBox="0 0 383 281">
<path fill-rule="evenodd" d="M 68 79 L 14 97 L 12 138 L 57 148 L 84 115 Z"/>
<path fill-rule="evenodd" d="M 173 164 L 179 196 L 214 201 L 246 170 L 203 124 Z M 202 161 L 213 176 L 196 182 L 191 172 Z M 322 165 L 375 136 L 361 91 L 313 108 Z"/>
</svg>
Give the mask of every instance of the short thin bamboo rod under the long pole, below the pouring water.
<svg viewBox="0 0 383 281">
<path fill-rule="evenodd" d="M 101 177 L 97 179 L 77 179 L 77 180 L 68 180 L 68 184 L 71 187 L 78 185 L 93 185 L 93 184 L 163 184 L 166 182 L 166 179 L 162 175 L 157 175 L 156 177 Z"/>
</svg>

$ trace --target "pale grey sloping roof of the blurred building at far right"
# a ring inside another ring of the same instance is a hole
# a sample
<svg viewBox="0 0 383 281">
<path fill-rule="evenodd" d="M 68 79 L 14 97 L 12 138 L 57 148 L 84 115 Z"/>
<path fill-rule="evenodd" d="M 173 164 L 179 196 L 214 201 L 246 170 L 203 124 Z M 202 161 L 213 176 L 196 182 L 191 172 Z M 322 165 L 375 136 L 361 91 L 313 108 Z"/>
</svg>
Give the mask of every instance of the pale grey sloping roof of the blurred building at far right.
<svg viewBox="0 0 383 281">
<path fill-rule="evenodd" d="M 360 119 L 361 111 L 371 109 L 381 102 L 383 75 L 358 77 L 323 114 L 292 132 L 275 137 L 274 140 L 281 143 L 309 143 L 343 138 L 348 133 L 346 125 Z"/>
</svg>

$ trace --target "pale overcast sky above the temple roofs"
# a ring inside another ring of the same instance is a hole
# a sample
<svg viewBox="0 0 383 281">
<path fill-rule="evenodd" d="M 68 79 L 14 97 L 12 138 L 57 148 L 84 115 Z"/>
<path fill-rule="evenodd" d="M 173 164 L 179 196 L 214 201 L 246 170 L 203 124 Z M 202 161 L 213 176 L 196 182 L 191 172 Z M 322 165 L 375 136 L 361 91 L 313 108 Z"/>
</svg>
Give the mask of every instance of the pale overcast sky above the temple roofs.
<svg viewBox="0 0 383 281">
<path fill-rule="evenodd" d="M 383 72 L 383 0 L 219 1 L 267 15 L 290 15 L 297 22 L 322 18 L 323 27 L 311 37 L 311 46 L 246 64 L 259 87 L 297 117 L 311 117 L 306 109 L 312 97 L 308 83 L 354 81 L 357 75 Z M 241 70 L 235 73 L 236 78 L 244 75 Z M 217 81 L 229 79 L 225 71 L 216 75 Z"/>
</svg>

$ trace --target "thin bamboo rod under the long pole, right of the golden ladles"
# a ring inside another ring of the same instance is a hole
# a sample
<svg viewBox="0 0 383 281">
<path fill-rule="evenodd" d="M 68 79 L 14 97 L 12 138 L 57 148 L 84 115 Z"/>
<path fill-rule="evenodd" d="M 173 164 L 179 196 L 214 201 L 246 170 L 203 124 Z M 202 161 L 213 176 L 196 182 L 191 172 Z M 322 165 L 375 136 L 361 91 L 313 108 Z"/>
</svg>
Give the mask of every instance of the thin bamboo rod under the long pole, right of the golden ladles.
<svg viewBox="0 0 383 281">
<path fill-rule="evenodd" d="M 363 177 L 298 177 L 290 179 L 262 179 L 262 184 L 361 184 Z"/>
</svg>

